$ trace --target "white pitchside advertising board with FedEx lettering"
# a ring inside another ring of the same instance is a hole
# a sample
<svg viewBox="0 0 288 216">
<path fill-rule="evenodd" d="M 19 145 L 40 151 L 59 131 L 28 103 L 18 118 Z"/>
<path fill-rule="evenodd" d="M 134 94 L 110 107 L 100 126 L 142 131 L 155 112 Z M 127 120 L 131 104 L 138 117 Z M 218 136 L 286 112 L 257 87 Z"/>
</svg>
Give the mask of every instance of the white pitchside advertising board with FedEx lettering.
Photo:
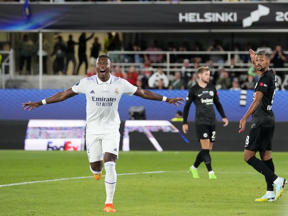
<svg viewBox="0 0 288 216">
<path fill-rule="evenodd" d="M 30 120 L 25 150 L 81 151 L 85 145 L 85 120 Z"/>
</svg>

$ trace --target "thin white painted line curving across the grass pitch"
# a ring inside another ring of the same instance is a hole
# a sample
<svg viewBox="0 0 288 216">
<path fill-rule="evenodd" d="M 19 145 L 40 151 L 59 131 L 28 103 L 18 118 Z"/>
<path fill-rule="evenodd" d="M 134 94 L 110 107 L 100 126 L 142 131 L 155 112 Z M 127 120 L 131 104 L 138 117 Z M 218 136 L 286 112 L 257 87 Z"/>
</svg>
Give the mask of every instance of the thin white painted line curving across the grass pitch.
<svg viewBox="0 0 288 216">
<path fill-rule="evenodd" d="M 137 174 L 150 174 L 150 173 L 189 173 L 188 171 L 154 171 L 154 172 L 140 172 L 140 173 L 121 173 L 117 174 L 120 175 L 137 175 Z M 201 172 L 199 172 L 201 173 Z M 217 173 L 231 173 L 231 172 L 217 172 Z M 253 173 L 240 173 L 240 172 L 233 172 L 234 174 L 257 174 L 257 172 Z M 102 175 L 105 176 L 105 175 Z M 50 182 L 50 181 L 64 181 L 64 180 L 71 180 L 71 179 L 81 179 L 81 178 L 92 178 L 91 176 L 82 176 L 82 177 L 71 177 L 71 178 L 57 178 L 57 179 L 50 179 L 50 180 L 42 180 L 42 181 L 26 181 L 26 182 L 19 182 L 19 183 L 12 183 L 12 184 L 1 184 L 0 187 L 7 187 L 7 186 L 16 186 L 16 185 L 23 185 L 23 184 L 35 184 L 35 183 L 43 183 L 43 182 Z"/>
</svg>

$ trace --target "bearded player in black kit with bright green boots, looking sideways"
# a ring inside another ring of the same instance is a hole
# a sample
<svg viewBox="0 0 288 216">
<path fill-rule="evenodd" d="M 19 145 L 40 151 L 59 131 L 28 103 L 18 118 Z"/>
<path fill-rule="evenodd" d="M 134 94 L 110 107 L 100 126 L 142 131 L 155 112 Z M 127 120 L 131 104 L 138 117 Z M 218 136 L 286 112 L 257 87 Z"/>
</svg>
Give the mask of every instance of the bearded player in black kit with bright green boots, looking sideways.
<svg viewBox="0 0 288 216">
<path fill-rule="evenodd" d="M 222 117 L 224 126 L 228 125 L 228 119 L 226 118 L 223 107 L 219 101 L 216 87 L 209 84 L 209 67 L 199 67 L 197 73 L 199 82 L 190 88 L 186 98 L 186 104 L 183 112 L 182 130 L 184 133 L 188 132 L 187 118 L 190 106 L 192 102 L 194 102 L 196 108 L 195 128 L 202 150 L 199 151 L 194 164 L 190 167 L 190 172 L 192 173 L 193 178 L 199 178 L 197 168 L 202 162 L 204 162 L 208 170 L 209 178 L 215 179 L 217 177 L 212 170 L 211 156 L 209 153 L 212 150 L 216 137 L 215 128 L 217 121 L 214 111 L 214 104 Z"/>
</svg>

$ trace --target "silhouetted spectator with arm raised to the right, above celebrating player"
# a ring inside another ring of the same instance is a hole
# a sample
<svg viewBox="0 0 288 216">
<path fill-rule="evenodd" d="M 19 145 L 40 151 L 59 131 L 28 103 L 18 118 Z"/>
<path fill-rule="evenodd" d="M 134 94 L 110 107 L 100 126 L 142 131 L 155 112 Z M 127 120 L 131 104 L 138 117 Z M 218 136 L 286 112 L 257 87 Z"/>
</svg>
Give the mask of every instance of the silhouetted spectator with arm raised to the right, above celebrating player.
<svg viewBox="0 0 288 216">
<path fill-rule="evenodd" d="M 79 37 L 79 46 L 78 46 L 78 59 L 79 59 L 79 65 L 77 68 L 77 74 L 79 74 L 79 69 L 82 65 L 82 63 L 85 63 L 85 74 L 88 73 L 88 60 L 86 55 L 86 43 L 90 39 L 92 39 L 94 36 L 94 33 L 91 34 L 90 37 L 86 38 L 86 33 L 82 33 Z"/>
</svg>

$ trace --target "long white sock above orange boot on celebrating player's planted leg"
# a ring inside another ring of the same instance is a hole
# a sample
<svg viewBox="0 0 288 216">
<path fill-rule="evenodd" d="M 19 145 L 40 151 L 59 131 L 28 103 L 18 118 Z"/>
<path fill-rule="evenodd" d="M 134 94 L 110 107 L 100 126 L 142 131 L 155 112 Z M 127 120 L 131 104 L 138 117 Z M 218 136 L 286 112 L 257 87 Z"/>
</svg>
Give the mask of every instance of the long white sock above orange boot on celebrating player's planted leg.
<svg viewBox="0 0 288 216">
<path fill-rule="evenodd" d="M 117 181 L 117 173 L 115 169 L 115 163 L 114 162 L 106 162 L 104 164 L 105 167 L 105 187 L 106 187 L 106 202 L 107 203 L 113 203 L 113 196 L 116 188 L 116 181 Z"/>
</svg>

